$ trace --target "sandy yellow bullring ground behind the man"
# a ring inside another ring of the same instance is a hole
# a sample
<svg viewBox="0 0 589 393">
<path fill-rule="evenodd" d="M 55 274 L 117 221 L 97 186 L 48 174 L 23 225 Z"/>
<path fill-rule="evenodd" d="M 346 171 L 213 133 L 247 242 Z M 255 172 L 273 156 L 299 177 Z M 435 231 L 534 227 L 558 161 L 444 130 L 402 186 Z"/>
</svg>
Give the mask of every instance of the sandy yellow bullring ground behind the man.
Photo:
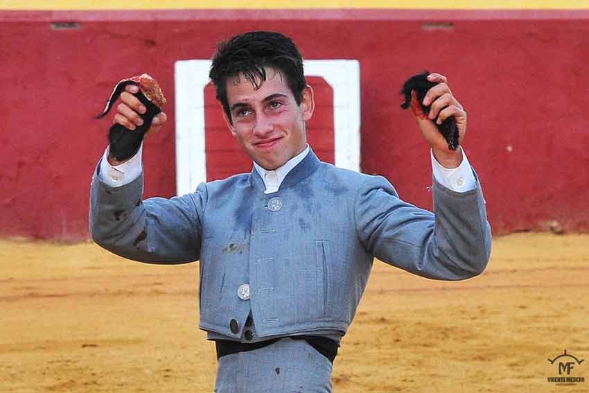
<svg viewBox="0 0 589 393">
<path fill-rule="evenodd" d="M 0 241 L 0 392 L 212 392 L 197 272 Z M 486 272 L 457 283 L 377 262 L 334 391 L 589 392 L 588 305 L 589 235 L 495 238 Z M 585 383 L 547 381 L 565 349 Z"/>
</svg>

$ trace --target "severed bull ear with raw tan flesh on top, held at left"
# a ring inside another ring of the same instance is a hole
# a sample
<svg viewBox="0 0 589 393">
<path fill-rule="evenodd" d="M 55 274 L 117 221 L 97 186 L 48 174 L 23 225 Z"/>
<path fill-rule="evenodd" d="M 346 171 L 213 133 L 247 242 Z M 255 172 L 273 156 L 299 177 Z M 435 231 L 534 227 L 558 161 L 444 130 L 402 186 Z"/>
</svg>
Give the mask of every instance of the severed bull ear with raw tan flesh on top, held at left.
<svg viewBox="0 0 589 393">
<path fill-rule="evenodd" d="M 139 125 L 135 130 L 129 130 L 124 125 L 118 123 L 112 125 L 110 128 L 108 133 L 110 154 L 117 161 L 124 161 L 137 153 L 143 137 L 151 127 L 154 116 L 161 112 L 161 107 L 166 103 L 166 98 L 156 80 L 148 74 L 143 73 L 141 76 L 134 76 L 118 82 L 106 103 L 105 109 L 101 114 L 96 116 L 96 119 L 102 119 L 106 116 L 112 109 L 112 105 L 114 105 L 115 101 L 121 96 L 121 93 L 123 93 L 123 90 L 128 85 L 139 87 L 139 91 L 134 96 L 145 105 L 147 110 L 144 114 L 139 115 L 143 119 L 143 124 Z"/>
</svg>

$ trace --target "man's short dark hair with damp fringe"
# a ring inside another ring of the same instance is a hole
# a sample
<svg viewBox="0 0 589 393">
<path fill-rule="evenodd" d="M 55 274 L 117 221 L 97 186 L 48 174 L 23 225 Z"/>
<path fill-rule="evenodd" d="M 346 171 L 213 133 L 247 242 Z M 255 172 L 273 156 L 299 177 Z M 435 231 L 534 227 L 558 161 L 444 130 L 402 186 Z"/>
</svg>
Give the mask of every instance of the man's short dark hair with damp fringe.
<svg viewBox="0 0 589 393">
<path fill-rule="evenodd" d="M 286 78 L 294 101 L 300 105 L 303 89 L 307 85 L 303 58 L 289 37 L 272 31 L 251 31 L 218 44 L 209 78 L 215 85 L 217 99 L 229 121 L 231 110 L 227 102 L 227 79 L 243 73 L 257 90 L 266 80 L 264 67 L 272 67 Z"/>
</svg>

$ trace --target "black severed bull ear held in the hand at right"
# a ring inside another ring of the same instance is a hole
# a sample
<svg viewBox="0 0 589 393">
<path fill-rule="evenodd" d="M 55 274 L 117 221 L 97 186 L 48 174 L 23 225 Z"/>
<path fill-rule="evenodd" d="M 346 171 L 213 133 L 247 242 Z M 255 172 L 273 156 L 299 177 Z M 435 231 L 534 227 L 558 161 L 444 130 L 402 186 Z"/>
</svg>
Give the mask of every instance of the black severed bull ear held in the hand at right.
<svg viewBox="0 0 589 393">
<path fill-rule="evenodd" d="M 430 113 L 430 105 L 423 105 L 423 98 L 425 98 L 425 94 L 428 93 L 428 90 L 437 85 L 437 83 L 430 82 L 428 80 L 428 75 L 430 75 L 430 71 L 423 71 L 422 73 L 414 75 L 405 81 L 403 88 L 401 89 L 401 95 L 405 98 L 405 101 L 403 101 L 401 104 L 403 109 L 410 107 L 411 91 L 414 90 L 423 113 Z M 434 119 L 434 124 L 435 121 L 436 119 Z M 444 120 L 439 125 L 436 124 L 436 127 L 444 139 L 446 139 L 446 142 L 448 142 L 448 148 L 450 148 L 450 150 L 456 150 L 458 147 L 459 134 L 458 126 L 456 125 L 456 119 L 454 119 L 454 116 L 448 117 L 448 119 Z"/>
</svg>

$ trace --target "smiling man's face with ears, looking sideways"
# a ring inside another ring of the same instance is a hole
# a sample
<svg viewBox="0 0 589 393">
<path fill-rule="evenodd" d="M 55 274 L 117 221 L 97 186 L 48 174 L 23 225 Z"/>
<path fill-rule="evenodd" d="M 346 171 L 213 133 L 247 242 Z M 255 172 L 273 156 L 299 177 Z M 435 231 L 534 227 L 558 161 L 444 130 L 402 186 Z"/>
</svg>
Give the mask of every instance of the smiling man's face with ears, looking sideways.
<svg viewBox="0 0 589 393">
<path fill-rule="evenodd" d="M 227 80 L 231 120 L 225 121 L 243 150 L 267 170 L 283 166 L 306 146 L 305 121 L 313 116 L 313 90 L 306 87 L 297 105 L 285 77 L 267 67 L 266 80 L 254 89 L 243 75 Z"/>
</svg>

